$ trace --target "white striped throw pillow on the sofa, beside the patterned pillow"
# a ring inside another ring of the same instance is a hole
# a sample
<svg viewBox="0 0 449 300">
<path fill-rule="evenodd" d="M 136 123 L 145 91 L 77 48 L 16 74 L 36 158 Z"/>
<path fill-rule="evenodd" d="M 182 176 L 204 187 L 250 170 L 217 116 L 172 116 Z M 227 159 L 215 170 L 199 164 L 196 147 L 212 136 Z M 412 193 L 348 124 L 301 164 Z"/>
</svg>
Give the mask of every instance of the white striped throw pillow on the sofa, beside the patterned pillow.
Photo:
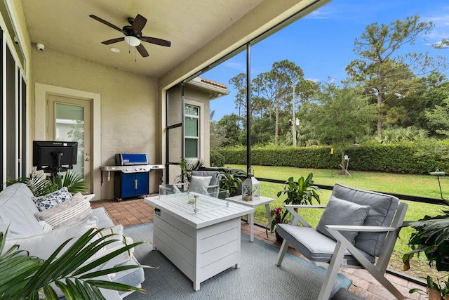
<svg viewBox="0 0 449 300">
<path fill-rule="evenodd" d="M 39 211 L 34 214 L 38 221 L 46 221 L 53 229 L 65 226 L 76 221 L 81 221 L 91 214 L 91 202 L 84 199 L 81 193 L 76 193 L 73 197 L 61 204 Z"/>
</svg>

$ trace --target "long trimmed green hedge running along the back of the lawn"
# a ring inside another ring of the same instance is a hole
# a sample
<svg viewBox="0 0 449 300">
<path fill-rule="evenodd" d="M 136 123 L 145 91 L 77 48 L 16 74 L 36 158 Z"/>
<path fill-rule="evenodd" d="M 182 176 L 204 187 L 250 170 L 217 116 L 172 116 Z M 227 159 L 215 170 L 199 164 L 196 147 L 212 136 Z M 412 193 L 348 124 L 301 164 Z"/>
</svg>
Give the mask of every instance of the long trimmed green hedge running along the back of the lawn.
<svg viewBox="0 0 449 300">
<path fill-rule="evenodd" d="M 352 146 L 345 151 L 349 169 L 406 174 L 449 172 L 449 145 L 446 143 L 368 144 Z M 246 164 L 246 148 L 217 150 L 227 164 Z M 340 153 L 330 154 L 330 147 L 266 147 L 251 149 L 251 164 L 314 169 L 340 169 Z"/>
</svg>

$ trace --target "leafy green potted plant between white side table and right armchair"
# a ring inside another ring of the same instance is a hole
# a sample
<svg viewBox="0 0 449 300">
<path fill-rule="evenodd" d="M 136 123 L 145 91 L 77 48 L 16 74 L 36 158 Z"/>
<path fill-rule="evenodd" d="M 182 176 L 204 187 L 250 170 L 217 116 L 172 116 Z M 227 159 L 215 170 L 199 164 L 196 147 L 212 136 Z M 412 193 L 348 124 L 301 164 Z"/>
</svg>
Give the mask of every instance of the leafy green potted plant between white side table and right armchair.
<svg viewBox="0 0 449 300">
<path fill-rule="evenodd" d="M 305 179 L 301 176 L 297 183 L 293 181 L 293 176 L 288 178 L 288 181 L 284 183 L 283 190 L 278 192 L 278 197 L 287 195 L 286 200 L 283 201 L 286 204 L 312 204 L 313 199 L 320 203 L 320 195 L 317 192 L 321 193 L 321 190 L 314 185 L 313 177 L 314 174 L 309 174 Z"/>
</svg>

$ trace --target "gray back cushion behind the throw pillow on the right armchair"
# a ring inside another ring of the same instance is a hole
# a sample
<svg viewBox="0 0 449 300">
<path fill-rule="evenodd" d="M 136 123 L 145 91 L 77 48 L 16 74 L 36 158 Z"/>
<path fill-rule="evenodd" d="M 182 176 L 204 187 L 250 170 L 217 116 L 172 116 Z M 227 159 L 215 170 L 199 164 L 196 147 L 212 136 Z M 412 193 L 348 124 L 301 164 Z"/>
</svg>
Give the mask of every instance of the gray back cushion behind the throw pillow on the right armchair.
<svg viewBox="0 0 449 300">
<path fill-rule="evenodd" d="M 363 222 L 364 226 L 391 226 L 399 204 L 397 197 L 341 184 L 334 185 L 332 195 L 357 204 L 369 205 L 371 208 Z M 371 255 L 379 256 L 386 236 L 387 233 L 359 233 L 354 245 Z"/>
</svg>

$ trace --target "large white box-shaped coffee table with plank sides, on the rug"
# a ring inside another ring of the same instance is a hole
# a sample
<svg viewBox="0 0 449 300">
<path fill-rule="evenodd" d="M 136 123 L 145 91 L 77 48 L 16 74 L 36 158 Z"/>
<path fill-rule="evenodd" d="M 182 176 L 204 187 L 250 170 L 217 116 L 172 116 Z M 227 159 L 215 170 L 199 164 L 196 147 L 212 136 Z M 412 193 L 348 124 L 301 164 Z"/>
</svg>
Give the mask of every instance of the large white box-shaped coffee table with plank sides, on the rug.
<svg viewBox="0 0 449 300">
<path fill-rule="evenodd" d="M 154 207 L 154 248 L 193 281 L 195 291 L 223 270 L 240 268 L 241 216 L 253 214 L 253 208 L 198 193 L 145 202 Z"/>
</svg>

